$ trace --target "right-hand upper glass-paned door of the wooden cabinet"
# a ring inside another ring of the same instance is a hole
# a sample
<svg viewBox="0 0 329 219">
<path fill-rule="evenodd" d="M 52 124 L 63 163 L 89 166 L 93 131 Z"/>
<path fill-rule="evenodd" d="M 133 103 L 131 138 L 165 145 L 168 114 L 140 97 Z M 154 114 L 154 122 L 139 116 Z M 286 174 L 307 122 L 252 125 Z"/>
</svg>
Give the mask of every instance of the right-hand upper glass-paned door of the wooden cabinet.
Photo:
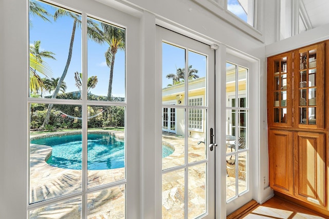
<svg viewBox="0 0 329 219">
<path fill-rule="evenodd" d="M 301 127 L 312 125 L 323 128 L 323 49 L 324 45 L 319 44 L 296 53 L 296 123 Z"/>
</svg>

